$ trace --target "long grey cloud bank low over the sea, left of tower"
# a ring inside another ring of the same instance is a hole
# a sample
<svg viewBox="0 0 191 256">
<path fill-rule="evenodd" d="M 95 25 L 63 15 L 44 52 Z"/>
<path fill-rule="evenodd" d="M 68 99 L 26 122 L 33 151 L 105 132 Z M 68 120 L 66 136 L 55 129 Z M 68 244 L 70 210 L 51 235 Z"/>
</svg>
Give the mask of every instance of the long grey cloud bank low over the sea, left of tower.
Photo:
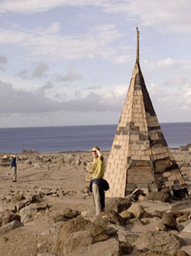
<svg viewBox="0 0 191 256">
<path fill-rule="evenodd" d="M 75 91 L 72 100 L 51 100 L 47 98 L 47 90 L 53 89 L 53 84 L 47 83 L 44 87 L 31 92 L 15 90 L 12 84 L 0 80 L 0 113 L 44 113 L 55 111 L 120 111 L 125 98 L 125 85 L 118 85 L 112 92 L 99 91 L 99 93 L 89 92 L 84 97 L 80 91 Z M 55 89 L 55 88 L 54 88 Z M 11 98 L 10 98 L 11 95 Z M 60 94 L 57 100 L 61 99 Z M 66 94 L 65 94 L 66 95 Z M 9 100 L 10 99 L 10 100 Z"/>
</svg>

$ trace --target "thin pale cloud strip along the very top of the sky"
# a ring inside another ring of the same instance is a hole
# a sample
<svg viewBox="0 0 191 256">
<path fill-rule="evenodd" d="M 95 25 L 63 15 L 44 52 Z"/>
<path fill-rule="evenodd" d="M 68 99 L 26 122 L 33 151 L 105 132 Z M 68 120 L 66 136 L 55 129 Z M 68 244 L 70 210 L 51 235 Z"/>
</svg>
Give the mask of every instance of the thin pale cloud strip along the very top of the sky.
<svg viewBox="0 0 191 256">
<path fill-rule="evenodd" d="M 106 12 L 123 14 L 127 19 L 142 25 L 162 25 L 163 29 L 191 31 L 189 0 L 3 0 L 0 2 L 0 11 L 26 15 L 61 6 L 99 7 Z"/>
</svg>

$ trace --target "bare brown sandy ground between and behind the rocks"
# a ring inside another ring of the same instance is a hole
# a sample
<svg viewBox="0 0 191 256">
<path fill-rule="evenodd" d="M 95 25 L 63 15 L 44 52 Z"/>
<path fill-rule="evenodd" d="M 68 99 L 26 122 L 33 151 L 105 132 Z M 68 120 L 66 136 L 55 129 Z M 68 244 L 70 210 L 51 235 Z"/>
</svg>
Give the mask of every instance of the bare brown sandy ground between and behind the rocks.
<svg viewBox="0 0 191 256">
<path fill-rule="evenodd" d="M 0 154 L 0 158 L 5 153 Z M 104 152 L 105 159 L 108 152 Z M 191 153 L 173 150 L 187 184 L 191 183 Z M 8 166 L 0 166 L 0 212 L 12 208 L 11 198 L 23 194 L 25 198 L 45 192 L 44 203 L 49 210 L 38 212 L 24 227 L 16 228 L 0 237 L 0 255 L 36 256 L 51 251 L 60 223 L 53 216 L 65 208 L 83 211 L 92 208 L 92 195 L 86 195 L 86 164 L 92 161 L 91 153 L 28 153 L 18 154 L 18 182 L 12 182 Z M 190 164 L 190 166 L 189 166 Z M 48 193 L 50 192 L 50 193 Z M 167 210 L 172 203 L 142 201 L 147 212 Z M 191 211 L 190 207 L 184 208 Z M 154 230 L 157 221 L 149 225 L 129 225 L 128 230 L 145 232 Z M 191 235 L 180 232 L 186 240 L 183 250 L 191 255 Z M 132 253 L 131 255 L 138 255 Z"/>
</svg>

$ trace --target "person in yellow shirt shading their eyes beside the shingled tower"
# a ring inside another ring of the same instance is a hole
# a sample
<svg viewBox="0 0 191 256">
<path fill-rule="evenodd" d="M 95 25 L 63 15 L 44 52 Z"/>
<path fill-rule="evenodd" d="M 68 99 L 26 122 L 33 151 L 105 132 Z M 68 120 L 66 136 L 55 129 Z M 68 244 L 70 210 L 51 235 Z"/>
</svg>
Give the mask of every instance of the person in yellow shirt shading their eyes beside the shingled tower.
<svg viewBox="0 0 191 256">
<path fill-rule="evenodd" d="M 105 172 L 104 157 L 98 146 L 91 149 L 94 157 L 92 162 L 92 180 L 90 182 L 89 191 L 93 194 L 93 202 L 95 205 L 95 214 L 99 215 L 105 208 L 105 192 L 103 189 L 103 176 Z"/>
</svg>

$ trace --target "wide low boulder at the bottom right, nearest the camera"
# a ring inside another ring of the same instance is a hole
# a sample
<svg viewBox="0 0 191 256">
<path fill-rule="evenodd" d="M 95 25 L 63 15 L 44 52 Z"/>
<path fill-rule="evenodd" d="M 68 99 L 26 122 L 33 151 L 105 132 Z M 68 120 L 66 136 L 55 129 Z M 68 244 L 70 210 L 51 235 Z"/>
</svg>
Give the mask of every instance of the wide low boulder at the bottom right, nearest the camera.
<svg viewBox="0 0 191 256">
<path fill-rule="evenodd" d="M 184 244 L 182 238 L 169 232 L 147 231 L 141 234 L 134 242 L 139 250 L 173 251 L 178 250 Z"/>
</svg>

